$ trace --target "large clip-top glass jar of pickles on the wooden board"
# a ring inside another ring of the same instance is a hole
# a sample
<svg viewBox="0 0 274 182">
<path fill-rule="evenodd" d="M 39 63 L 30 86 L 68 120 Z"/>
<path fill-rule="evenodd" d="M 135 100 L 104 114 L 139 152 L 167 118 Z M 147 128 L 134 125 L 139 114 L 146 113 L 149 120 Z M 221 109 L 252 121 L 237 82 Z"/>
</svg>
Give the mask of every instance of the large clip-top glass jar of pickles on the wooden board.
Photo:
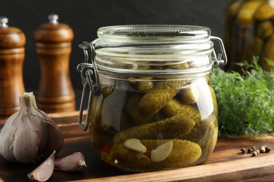
<svg viewBox="0 0 274 182">
<path fill-rule="evenodd" d="M 226 64 L 226 53 L 209 28 L 102 27 L 98 39 L 80 47 L 86 57 L 77 66 L 84 84 L 79 126 L 89 127 L 103 161 L 148 172 L 197 165 L 214 150 L 218 108 L 209 73 L 213 64 Z"/>
</svg>

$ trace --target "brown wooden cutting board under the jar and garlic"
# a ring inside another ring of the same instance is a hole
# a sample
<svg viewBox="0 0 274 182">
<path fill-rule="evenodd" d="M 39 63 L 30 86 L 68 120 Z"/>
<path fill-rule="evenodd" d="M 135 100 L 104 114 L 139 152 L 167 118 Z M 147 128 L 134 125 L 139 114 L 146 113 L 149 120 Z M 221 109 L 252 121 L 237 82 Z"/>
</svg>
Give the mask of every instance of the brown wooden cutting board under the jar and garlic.
<svg viewBox="0 0 274 182">
<path fill-rule="evenodd" d="M 78 111 L 53 113 L 51 118 L 63 132 L 65 143 L 56 157 L 82 152 L 86 165 L 81 172 L 54 171 L 48 181 L 274 181 L 274 151 L 252 157 L 239 155 L 240 148 L 270 146 L 274 148 L 274 137 L 256 139 L 218 139 L 214 152 L 194 167 L 128 174 L 102 162 L 89 142 L 89 132 L 83 132 L 77 123 Z M 0 128 L 5 120 L 0 120 Z M 39 164 L 21 165 L 7 162 L 0 157 L 0 181 L 28 181 L 27 174 Z"/>
</svg>

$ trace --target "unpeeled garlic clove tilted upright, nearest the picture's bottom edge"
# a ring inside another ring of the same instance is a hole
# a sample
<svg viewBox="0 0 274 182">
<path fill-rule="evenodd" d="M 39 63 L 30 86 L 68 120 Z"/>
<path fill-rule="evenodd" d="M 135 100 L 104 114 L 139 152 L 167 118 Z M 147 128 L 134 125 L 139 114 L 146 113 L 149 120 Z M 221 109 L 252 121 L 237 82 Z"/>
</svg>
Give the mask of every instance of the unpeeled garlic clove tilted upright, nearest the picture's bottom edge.
<svg viewBox="0 0 274 182">
<path fill-rule="evenodd" d="M 49 156 L 41 165 L 39 165 L 39 167 L 30 172 L 30 174 L 27 174 L 27 177 L 30 180 L 47 181 L 53 174 L 55 155 L 56 151 L 53 151 L 51 156 Z"/>
</svg>

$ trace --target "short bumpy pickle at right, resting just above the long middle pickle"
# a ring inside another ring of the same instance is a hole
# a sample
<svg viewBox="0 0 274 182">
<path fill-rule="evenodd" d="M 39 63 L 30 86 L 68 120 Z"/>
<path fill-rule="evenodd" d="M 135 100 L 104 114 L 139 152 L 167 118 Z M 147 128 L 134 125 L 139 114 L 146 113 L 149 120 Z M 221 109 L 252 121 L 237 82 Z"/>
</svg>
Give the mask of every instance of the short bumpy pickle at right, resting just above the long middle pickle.
<svg viewBox="0 0 274 182">
<path fill-rule="evenodd" d="M 190 118 L 193 118 L 193 120 L 195 120 L 195 122 L 197 123 L 201 120 L 201 115 L 198 109 L 195 109 L 190 104 L 178 102 L 177 99 L 171 99 L 169 103 L 164 106 L 163 111 L 167 117 L 180 114 L 182 116 L 188 116 Z"/>
</svg>

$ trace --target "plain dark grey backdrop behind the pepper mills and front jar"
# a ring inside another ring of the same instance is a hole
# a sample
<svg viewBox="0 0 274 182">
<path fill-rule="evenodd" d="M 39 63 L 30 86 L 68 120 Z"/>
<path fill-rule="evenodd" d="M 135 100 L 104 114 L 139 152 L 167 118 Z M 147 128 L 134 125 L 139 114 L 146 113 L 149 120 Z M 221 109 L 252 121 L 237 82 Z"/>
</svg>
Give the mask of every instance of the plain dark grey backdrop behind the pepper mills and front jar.
<svg viewBox="0 0 274 182">
<path fill-rule="evenodd" d="M 23 76 L 27 91 L 39 85 L 39 59 L 34 30 L 48 22 L 48 14 L 59 15 L 60 22 L 74 31 L 70 76 L 75 90 L 81 90 L 76 66 L 84 61 L 78 48 L 82 41 L 93 41 L 99 27 L 132 24 L 202 25 L 223 38 L 224 10 L 230 0 L 1 0 L 0 15 L 8 25 L 22 29 L 27 38 Z"/>
</svg>

